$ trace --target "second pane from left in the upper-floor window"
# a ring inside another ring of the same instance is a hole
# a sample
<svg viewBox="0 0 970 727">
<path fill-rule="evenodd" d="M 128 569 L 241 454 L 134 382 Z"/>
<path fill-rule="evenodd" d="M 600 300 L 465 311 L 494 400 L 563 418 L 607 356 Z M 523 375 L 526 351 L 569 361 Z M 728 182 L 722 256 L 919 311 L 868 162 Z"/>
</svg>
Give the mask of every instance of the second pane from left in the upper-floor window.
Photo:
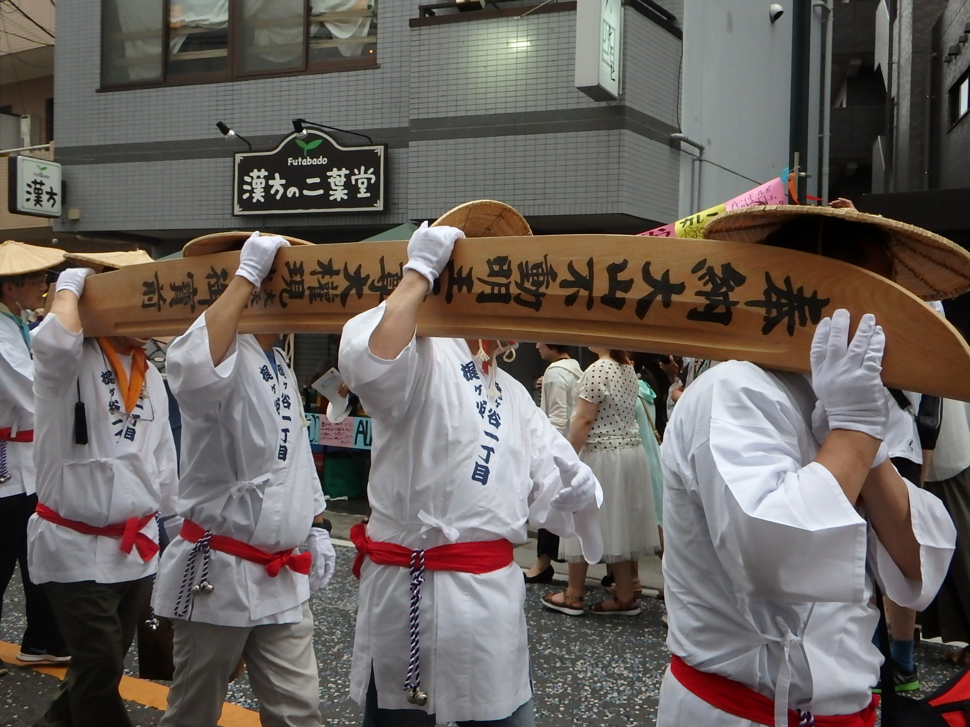
<svg viewBox="0 0 970 727">
<path fill-rule="evenodd" d="M 225 74 L 228 69 L 229 0 L 172 0 L 169 76 Z"/>
</svg>

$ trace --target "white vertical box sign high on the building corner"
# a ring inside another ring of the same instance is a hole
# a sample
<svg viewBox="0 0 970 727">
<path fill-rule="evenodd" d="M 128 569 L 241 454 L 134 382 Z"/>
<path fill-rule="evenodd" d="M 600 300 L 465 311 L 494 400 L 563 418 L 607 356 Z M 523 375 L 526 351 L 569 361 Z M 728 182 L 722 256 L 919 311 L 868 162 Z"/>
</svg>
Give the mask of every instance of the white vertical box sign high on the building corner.
<svg viewBox="0 0 970 727">
<path fill-rule="evenodd" d="M 596 101 L 620 98 L 623 0 L 578 0 L 576 88 Z"/>
</svg>

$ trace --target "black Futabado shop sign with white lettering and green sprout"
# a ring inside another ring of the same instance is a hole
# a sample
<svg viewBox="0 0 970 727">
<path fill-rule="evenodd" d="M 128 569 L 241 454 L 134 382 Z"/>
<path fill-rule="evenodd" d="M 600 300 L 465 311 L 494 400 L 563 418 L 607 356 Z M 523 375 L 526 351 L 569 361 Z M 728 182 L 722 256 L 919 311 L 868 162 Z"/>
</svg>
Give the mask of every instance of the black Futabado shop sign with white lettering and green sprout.
<svg viewBox="0 0 970 727">
<path fill-rule="evenodd" d="M 233 214 L 382 212 L 387 145 L 340 146 L 320 131 L 236 155 Z"/>
</svg>

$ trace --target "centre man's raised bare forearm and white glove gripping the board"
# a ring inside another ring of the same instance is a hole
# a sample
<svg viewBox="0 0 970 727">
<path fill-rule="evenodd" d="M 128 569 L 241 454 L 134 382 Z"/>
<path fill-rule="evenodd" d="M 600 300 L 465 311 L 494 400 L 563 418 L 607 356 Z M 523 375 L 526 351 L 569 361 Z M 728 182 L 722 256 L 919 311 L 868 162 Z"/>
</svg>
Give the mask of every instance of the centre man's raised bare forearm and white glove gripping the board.
<svg viewBox="0 0 970 727">
<path fill-rule="evenodd" d="M 414 231 L 407 243 L 404 276 L 385 302 L 384 315 L 371 333 L 369 348 L 378 359 L 397 359 L 414 337 L 421 303 L 448 264 L 455 240 L 465 237 L 457 227 L 428 227 Z"/>
</svg>

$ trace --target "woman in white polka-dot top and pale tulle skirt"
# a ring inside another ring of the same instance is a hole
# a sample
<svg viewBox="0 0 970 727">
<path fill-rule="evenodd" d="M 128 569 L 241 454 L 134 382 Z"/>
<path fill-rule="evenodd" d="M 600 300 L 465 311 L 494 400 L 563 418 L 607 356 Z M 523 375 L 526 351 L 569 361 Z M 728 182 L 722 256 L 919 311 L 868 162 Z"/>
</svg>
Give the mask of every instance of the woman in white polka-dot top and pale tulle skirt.
<svg viewBox="0 0 970 727">
<path fill-rule="evenodd" d="M 638 382 L 625 351 L 590 346 L 599 359 L 579 380 L 579 398 L 569 427 L 569 443 L 590 465 L 603 489 L 599 529 L 603 562 L 613 565 L 616 596 L 590 607 L 604 616 L 636 616 L 633 561 L 654 552 L 660 544 L 647 458 L 643 454 L 634 407 L 639 405 Z M 543 605 L 567 616 L 581 616 L 586 561 L 576 538 L 565 538 L 560 556 L 569 562 L 565 591 L 549 593 Z"/>
</svg>

